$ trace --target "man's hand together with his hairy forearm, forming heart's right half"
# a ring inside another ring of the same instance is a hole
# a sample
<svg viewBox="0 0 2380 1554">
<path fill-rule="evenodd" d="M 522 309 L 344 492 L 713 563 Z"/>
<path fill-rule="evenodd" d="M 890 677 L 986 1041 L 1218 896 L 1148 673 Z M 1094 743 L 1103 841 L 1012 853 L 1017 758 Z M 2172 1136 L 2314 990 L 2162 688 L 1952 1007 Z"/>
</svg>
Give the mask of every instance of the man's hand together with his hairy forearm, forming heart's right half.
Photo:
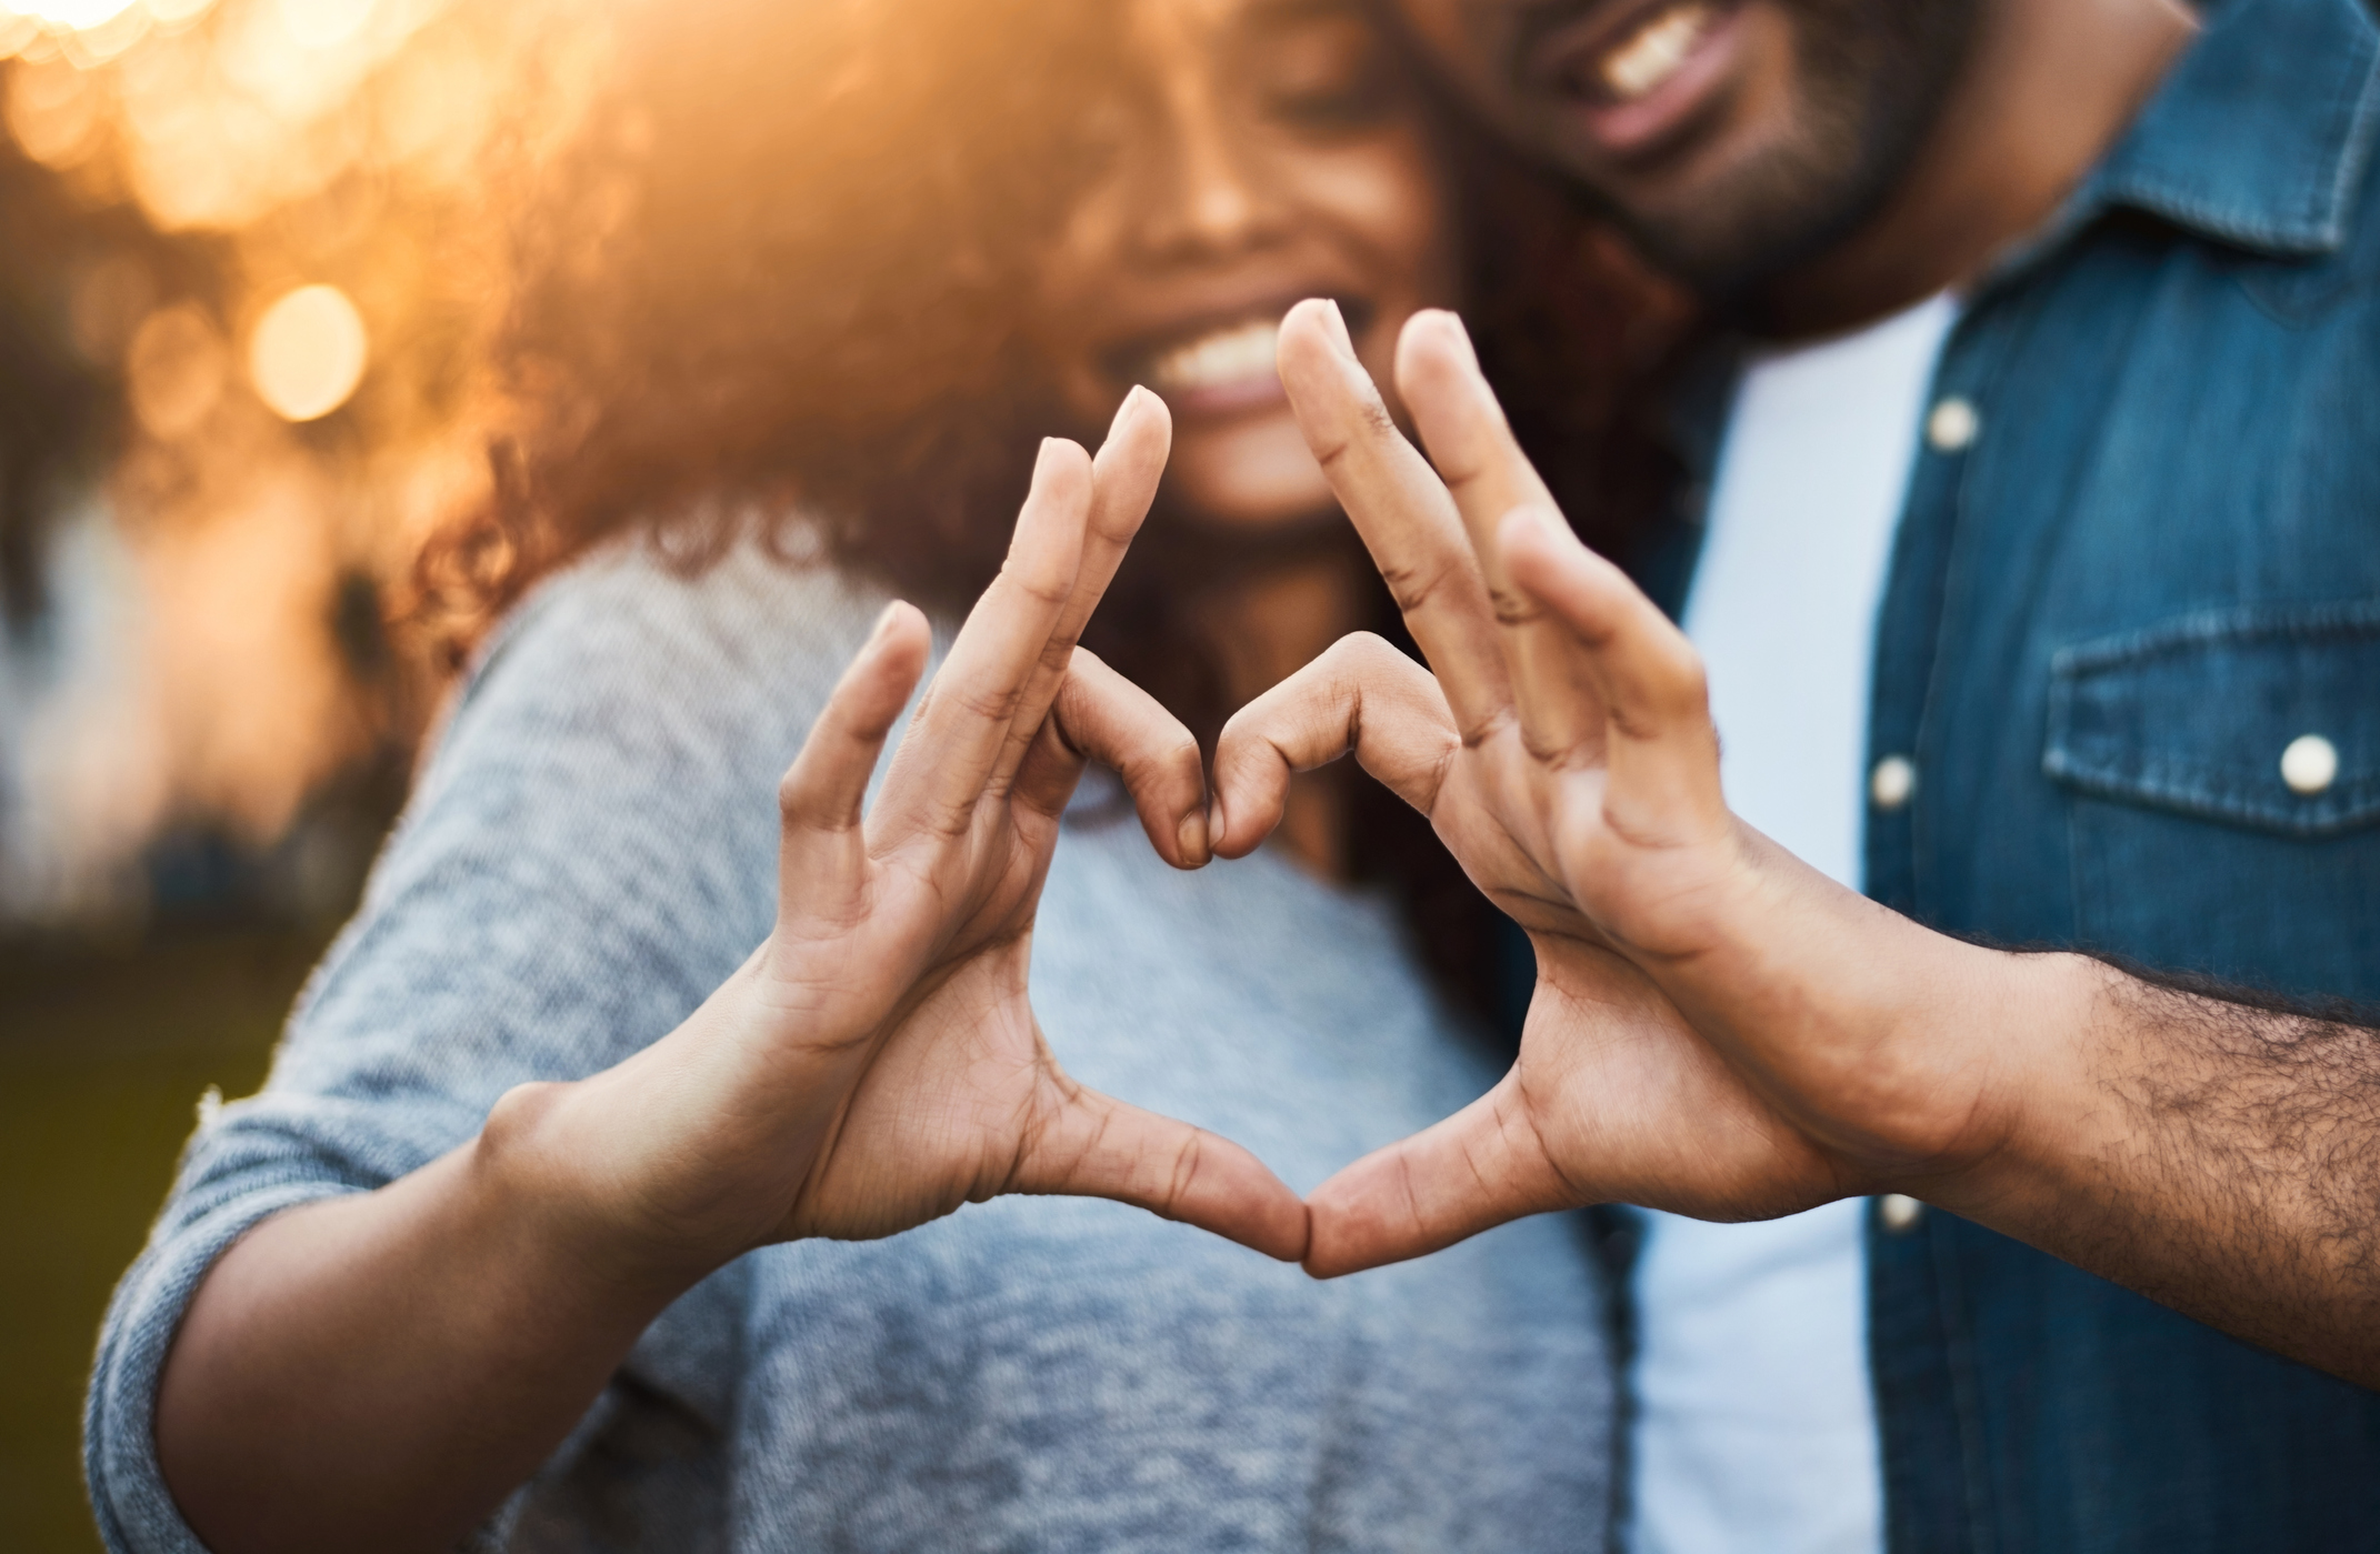
<svg viewBox="0 0 2380 1554">
<path fill-rule="evenodd" d="M 1354 750 L 1528 928 L 1537 995 L 1478 1104 L 1311 1197 L 1345 1273 L 1621 1199 L 1756 1218 L 1909 1192 L 2380 1383 L 2380 1033 L 1925 930 L 1737 821 L 1692 647 L 1554 512 L 1461 326 L 1421 314 L 1397 436 L 1328 305 L 1283 381 L 1430 673 L 1347 640 L 1216 757 L 1216 852 Z"/>
</svg>

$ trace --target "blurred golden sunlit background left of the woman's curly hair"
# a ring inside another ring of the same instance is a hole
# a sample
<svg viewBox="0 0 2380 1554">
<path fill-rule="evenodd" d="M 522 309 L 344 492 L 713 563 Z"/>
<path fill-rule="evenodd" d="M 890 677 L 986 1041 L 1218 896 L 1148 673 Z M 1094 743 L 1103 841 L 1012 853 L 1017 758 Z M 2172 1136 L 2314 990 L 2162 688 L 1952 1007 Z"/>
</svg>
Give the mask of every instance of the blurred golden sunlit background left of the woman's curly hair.
<svg viewBox="0 0 2380 1554">
<path fill-rule="evenodd" d="M 133 911 L 159 831 L 276 845 L 333 773 L 416 738 L 440 669 L 374 645 L 371 612 L 486 478 L 490 145 L 569 143 L 609 12 L 0 0 L 0 159 L 67 224 L 19 252 L 57 350 L 121 388 L 114 457 L 67 493 L 81 571 L 50 578 L 71 664 L 36 681 L 0 643 L 0 821 L 40 816 L 0 828 L 0 928 Z M 0 212 L 0 250 L 19 238 Z M 357 436 L 307 436 L 367 395 Z M 12 723 L 29 683 L 55 690 Z"/>
</svg>

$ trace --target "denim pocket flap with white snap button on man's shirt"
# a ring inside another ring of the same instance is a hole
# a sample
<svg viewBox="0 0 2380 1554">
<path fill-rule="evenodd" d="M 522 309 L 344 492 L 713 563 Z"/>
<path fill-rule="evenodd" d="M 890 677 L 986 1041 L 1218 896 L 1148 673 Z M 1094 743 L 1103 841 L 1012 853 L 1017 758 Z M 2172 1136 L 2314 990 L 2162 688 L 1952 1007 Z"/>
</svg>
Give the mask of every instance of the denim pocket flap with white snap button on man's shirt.
<svg viewBox="0 0 2380 1554">
<path fill-rule="evenodd" d="M 2042 771 L 2282 835 L 2380 821 L 2380 600 L 2218 609 L 2061 650 Z"/>
</svg>

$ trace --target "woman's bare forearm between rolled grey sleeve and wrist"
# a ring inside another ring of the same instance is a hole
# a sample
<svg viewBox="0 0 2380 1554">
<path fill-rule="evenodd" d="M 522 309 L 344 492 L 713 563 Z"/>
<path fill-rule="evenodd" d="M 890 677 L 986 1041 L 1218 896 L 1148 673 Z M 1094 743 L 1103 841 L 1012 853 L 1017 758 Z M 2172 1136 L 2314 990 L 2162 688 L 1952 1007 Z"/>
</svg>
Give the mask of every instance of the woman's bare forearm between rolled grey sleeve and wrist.
<svg viewBox="0 0 2380 1554">
<path fill-rule="evenodd" d="M 209 1547 L 452 1544 L 700 1276 L 578 1211 L 543 1138 L 564 1095 L 514 1092 L 471 1145 L 217 1261 L 157 1399 L 159 1466 Z"/>
</svg>

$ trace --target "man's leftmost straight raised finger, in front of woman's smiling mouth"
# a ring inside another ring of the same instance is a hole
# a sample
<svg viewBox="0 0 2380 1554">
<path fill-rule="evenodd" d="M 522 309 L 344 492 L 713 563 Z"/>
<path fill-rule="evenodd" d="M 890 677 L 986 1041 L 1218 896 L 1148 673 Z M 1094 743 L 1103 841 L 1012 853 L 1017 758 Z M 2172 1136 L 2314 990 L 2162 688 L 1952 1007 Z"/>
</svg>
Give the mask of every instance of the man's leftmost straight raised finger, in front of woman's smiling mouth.
<svg viewBox="0 0 2380 1554">
<path fill-rule="evenodd" d="M 1404 440 L 1354 357 L 1335 302 L 1280 321 L 1280 386 L 1307 447 L 1421 645 L 1466 740 L 1511 709 L 1495 609 L 1454 497 Z"/>
</svg>

